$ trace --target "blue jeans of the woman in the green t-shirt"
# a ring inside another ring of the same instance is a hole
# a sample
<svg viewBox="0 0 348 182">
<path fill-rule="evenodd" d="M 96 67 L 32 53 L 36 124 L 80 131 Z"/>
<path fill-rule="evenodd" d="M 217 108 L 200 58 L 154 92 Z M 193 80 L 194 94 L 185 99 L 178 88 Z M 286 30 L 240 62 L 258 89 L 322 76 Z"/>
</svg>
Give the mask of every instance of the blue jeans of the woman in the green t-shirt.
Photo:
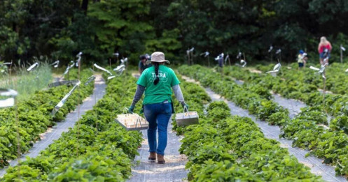
<svg viewBox="0 0 348 182">
<path fill-rule="evenodd" d="M 148 121 L 148 146 L 149 152 L 165 155 L 167 146 L 167 128 L 172 116 L 172 103 L 156 103 L 144 105 L 144 115 Z M 158 129 L 158 144 L 156 130 Z"/>
</svg>

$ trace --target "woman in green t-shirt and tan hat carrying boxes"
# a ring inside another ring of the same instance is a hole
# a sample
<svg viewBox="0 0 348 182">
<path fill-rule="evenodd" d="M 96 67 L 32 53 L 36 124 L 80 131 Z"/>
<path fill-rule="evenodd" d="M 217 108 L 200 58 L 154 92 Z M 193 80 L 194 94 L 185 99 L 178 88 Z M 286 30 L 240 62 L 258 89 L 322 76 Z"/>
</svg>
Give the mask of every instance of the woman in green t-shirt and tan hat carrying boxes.
<svg viewBox="0 0 348 182">
<path fill-rule="evenodd" d="M 157 154 L 158 163 L 164 164 L 165 148 L 167 146 L 167 127 L 169 119 L 172 113 L 174 113 L 172 89 L 181 105 L 184 108 L 188 108 L 188 105 L 183 100 L 179 79 L 171 68 L 165 66 L 165 63 L 169 63 L 169 61 L 165 60 L 165 54 L 153 52 L 151 61 L 147 62 L 151 62 L 153 66 L 144 70 L 139 77 L 137 91 L 128 111 L 130 113 L 133 112 L 135 104 L 145 91 L 143 109 L 146 120 L 149 123 L 147 132 L 150 156 L 148 160 L 156 160 Z M 156 140 L 156 130 L 158 130 L 158 142 Z"/>
</svg>

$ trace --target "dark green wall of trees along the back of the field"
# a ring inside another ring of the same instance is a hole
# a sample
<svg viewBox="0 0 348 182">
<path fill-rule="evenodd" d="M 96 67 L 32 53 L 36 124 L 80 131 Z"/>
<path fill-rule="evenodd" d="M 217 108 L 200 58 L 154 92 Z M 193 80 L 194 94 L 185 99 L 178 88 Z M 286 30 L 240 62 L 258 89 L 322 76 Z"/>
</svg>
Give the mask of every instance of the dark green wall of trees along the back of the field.
<svg viewBox="0 0 348 182">
<path fill-rule="evenodd" d="M 4 0 L 0 57 L 47 55 L 67 63 L 82 51 L 88 60 L 106 63 L 120 52 L 136 63 L 139 54 L 161 50 L 175 63 L 195 47 L 195 57 L 242 51 L 248 60 L 268 60 L 273 45 L 287 61 L 300 49 L 316 60 L 319 38 L 327 36 L 332 60 L 339 61 L 347 15 L 343 0 Z"/>
</svg>

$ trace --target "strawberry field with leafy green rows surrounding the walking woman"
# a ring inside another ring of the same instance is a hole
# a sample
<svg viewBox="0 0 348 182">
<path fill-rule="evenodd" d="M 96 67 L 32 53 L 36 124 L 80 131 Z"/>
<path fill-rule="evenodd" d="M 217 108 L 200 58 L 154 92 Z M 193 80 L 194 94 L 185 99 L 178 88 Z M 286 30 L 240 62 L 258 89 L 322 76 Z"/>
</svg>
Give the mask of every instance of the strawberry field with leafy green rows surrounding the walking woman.
<svg viewBox="0 0 348 182">
<path fill-rule="evenodd" d="M 226 66 L 221 73 L 199 65 L 174 69 L 186 103 L 200 116 L 199 124 L 186 127 L 177 126 L 173 117 L 168 131 L 180 138 L 177 153 L 185 156 L 181 170 L 186 176 L 181 180 L 345 181 L 348 97 L 342 79 L 347 75 L 342 65 L 330 65 L 327 75 L 335 76 L 328 76 L 323 94 L 321 77 L 295 66 L 286 66 L 277 76 L 265 73 L 271 65 Z M 97 83 L 88 79 L 99 73 L 83 69 L 81 82 L 86 84 L 55 115 L 50 112 L 71 86 L 37 91 L 29 99 L 19 100 L 16 107 L 0 109 L 0 164 L 4 168 L 0 181 L 137 181 L 137 167 L 154 165 L 137 160 L 146 143 L 145 134 L 127 131 L 115 121 L 132 102 L 137 88 L 132 72 L 112 78 L 103 73 L 106 89 L 96 105 L 38 156 L 17 165 L 11 161 L 32 153 L 46 130 L 74 109 L 80 111 L 78 105 L 97 91 L 93 86 Z M 78 70 L 71 70 L 69 77 L 78 78 Z M 277 97 L 290 104 L 281 106 Z M 180 112 L 174 95 L 173 100 Z M 291 100 L 305 106 L 294 112 L 291 108 L 297 106 Z M 141 113 L 140 109 L 134 112 Z M 246 113 L 240 113 L 242 110 Z M 165 167 L 175 174 L 171 171 L 175 164 L 169 160 Z"/>
</svg>

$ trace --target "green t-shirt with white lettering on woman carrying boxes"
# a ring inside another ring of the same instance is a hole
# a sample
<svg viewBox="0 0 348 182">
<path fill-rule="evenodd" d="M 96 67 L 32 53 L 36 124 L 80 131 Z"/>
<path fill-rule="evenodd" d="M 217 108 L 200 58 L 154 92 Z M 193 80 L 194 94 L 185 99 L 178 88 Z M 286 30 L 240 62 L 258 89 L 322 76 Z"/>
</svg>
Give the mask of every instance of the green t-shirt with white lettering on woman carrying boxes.
<svg viewBox="0 0 348 182">
<path fill-rule="evenodd" d="M 172 102 L 172 86 L 180 84 L 179 79 L 171 68 L 164 65 L 160 65 L 158 76 L 160 82 L 155 85 L 155 66 L 151 66 L 144 70 L 138 79 L 137 84 L 145 86 L 144 105 L 162 103 L 165 100 Z"/>
</svg>

